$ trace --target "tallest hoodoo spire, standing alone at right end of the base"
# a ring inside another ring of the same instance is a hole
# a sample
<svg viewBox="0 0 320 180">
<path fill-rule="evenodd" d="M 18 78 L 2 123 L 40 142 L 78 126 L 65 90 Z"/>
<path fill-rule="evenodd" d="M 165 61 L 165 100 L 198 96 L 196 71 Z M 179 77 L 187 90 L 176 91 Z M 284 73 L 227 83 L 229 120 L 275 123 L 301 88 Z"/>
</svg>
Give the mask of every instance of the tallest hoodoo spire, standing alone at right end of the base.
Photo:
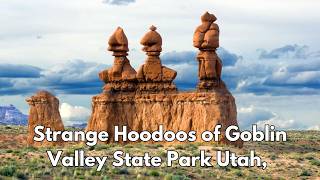
<svg viewBox="0 0 320 180">
<path fill-rule="evenodd" d="M 214 23 L 217 18 L 206 12 L 201 16 L 202 24 L 193 35 L 193 46 L 199 48 L 198 89 L 211 90 L 221 84 L 222 62 L 216 53 L 219 47 L 219 26 Z"/>
</svg>

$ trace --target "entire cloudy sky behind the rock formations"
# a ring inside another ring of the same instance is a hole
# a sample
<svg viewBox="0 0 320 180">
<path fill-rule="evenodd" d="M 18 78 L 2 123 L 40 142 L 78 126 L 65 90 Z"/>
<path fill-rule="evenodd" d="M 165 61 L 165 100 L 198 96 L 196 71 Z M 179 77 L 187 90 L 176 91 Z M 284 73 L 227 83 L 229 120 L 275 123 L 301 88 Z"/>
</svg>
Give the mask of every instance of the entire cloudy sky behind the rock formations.
<svg viewBox="0 0 320 180">
<path fill-rule="evenodd" d="M 192 89 L 192 35 L 209 11 L 218 18 L 223 80 L 241 126 L 320 129 L 318 9 L 318 0 L 2 0 L 0 105 L 27 113 L 24 99 L 47 89 L 60 98 L 65 122 L 85 122 L 101 92 L 97 74 L 112 64 L 107 39 L 118 26 L 135 68 L 145 59 L 141 37 L 157 26 L 163 64 L 178 71 L 180 89 Z"/>
</svg>

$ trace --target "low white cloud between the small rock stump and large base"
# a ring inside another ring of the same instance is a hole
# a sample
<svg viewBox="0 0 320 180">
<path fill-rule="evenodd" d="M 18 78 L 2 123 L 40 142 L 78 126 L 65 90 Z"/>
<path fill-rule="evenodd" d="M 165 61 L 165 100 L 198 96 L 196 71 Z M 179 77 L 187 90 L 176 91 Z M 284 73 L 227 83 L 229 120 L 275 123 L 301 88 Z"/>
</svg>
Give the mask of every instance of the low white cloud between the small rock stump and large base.
<svg viewBox="0 0 320 180">
<path fill-rule="evenodd" d="M 91 114 L 91 110 L 86 107 L 72 106 L 68 103 L 62 103 L 59 110 L 65 126 L 87 123 Z"/>
</svg>

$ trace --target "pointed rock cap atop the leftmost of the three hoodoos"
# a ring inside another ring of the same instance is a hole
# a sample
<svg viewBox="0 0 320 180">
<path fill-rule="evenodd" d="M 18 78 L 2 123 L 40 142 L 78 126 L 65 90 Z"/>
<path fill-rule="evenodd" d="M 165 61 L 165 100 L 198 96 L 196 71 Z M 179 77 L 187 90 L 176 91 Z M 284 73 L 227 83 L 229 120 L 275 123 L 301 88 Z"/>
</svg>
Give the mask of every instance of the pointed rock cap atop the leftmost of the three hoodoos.
<svg viewBox="0 0 320 180">
<path fill-rule="evenodd" d="M 128 39 L 127 36 L 124 34 L 123 29 L 118 27 L 116 31 L 111 35 L 108 41 L 109 51 L 124 51 L 128 52 Z"/>
</svg>

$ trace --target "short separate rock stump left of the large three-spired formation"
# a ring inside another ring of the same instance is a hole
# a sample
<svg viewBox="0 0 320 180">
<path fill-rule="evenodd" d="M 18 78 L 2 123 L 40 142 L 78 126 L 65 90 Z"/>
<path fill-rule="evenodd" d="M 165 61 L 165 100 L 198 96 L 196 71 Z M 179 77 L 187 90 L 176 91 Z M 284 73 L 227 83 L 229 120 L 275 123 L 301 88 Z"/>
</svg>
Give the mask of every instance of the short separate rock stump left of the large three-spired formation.
<svg viewBox="0 0 320 180">
<path fill-rule="evenodd" d="M 63 131 L 64 126 L 59 113 L 59 100 L 47 91 L 39 91 L 36 95 L 26 99 L 30 106 L 28 120 L 28 144 L 35 146 L 56 145 L 61 142 L 35 142 L 34 128 L 42 125 L 53 131 Z"/>
</svg>

